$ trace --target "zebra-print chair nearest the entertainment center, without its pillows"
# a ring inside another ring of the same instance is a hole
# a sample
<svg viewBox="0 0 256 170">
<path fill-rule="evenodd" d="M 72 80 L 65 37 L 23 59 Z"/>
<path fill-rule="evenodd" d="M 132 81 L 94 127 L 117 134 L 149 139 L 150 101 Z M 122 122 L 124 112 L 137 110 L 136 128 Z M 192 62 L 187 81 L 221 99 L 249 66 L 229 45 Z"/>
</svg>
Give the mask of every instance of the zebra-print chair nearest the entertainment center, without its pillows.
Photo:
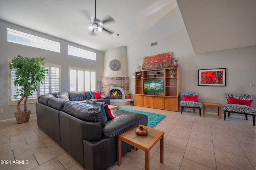
<svg viewBox="0 0 256 170">
<path fill-rule="evenodd" d="M 181 106 L 181 114 L 182 114 L 184 107 L 190 107 L 190 108 L 193 108 L 194 112 L 195 112 L 195 108 L 199 109 L 199 115 L 201 116 L 202 104 L 197 101 L 183 101 L 182 95 L 194 96 L 194 95 L 198 95 L 198 92 L 181 91 L 180 92 L 180 106 Z"/>
</svg>

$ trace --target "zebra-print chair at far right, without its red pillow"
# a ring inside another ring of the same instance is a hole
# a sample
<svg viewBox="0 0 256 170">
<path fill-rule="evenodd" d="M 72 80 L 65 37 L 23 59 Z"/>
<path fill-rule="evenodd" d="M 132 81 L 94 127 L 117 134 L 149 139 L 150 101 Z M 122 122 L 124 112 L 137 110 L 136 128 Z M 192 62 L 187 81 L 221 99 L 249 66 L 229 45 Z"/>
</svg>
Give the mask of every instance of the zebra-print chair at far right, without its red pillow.
<svg viewBox="0 0 256 170">
<path fill-rule="evenodd" d="M 228 97 L 232 97 L 240 100 L 253 100 L 253 95 L 246 94 L 235 94 L 235 93 L 225 93 L 225 102 L 228 103 Z M 247 105 L 238 105 L 238 104 L 226 104 L 223 106 L 224 111 L 224 121 L 226 120 L 226 112 L 228 112 L 228 117 L 230 113 L 238 113 L 245 115 L 247 120 L 247 115 L 252 115 L 253 126 L 255 126 L 255 116 L 256 110 Z"/>
</svg>

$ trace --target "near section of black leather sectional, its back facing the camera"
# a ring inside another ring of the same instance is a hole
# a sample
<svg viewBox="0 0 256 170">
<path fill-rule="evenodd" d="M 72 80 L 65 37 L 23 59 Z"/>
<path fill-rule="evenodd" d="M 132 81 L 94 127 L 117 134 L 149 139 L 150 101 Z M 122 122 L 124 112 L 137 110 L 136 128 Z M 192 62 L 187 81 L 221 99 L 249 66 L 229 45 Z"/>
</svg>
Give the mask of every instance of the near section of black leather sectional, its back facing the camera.
<svg viewBox="0 0 256 170">
<path fill-rule="evenodd" d="M 98 107 L 56 98 L 53 94 L 38 97 L 36 115 L 38 127 L 86 170 L 110 167 L 117 161 L 117 134 L 137 123 L 148 124 L 146 115 L 123 110 L 112 111 L 115 119 L 104 122 Z M 123 142 L 122 156 L 132 148 Z"/>
</svg>

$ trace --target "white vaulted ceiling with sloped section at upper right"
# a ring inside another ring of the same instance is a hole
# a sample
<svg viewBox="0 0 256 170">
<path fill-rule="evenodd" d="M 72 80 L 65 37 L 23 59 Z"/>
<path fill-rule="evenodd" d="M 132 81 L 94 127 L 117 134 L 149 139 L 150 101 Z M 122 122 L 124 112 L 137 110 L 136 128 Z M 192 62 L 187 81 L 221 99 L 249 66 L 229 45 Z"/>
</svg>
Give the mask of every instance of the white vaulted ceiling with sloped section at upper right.
<svg viewBox="0 0 256 170">
<path fill-rule="evenodd" d="M 177 0 L 195 53 L 256 45 L 256 0 Z M 127 46 L 177 7 L 176 0 L 97 0 L 96 18 L 113 30 L 91 36 L 94 0 L 0 0 L 0 20 L 99 51 Z M 168 24 L 168 22 L 166 22 Z M 116 37 L 115 34 L 120 36 Z"/>
</svg>

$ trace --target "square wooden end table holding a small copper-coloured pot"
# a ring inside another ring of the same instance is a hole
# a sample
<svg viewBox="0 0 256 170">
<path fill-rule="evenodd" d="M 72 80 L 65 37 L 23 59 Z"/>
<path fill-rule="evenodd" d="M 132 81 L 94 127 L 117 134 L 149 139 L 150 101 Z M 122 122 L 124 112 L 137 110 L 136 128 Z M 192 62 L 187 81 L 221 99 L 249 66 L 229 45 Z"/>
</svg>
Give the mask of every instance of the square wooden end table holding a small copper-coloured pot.
<svg viewBox="0 0 256 170">
<path fill-rule="evenodd" d="M 148 129 L 146 136 L 138 136 L 135 129 L 143 125 L 134 125 L 117 135 L 117 165 L 121 166 L 122 141 L 141 149 L 145 152 L 145 170 L 149 170 L 149 151 L 160 140 L 160 162 L 164 162 L 164 132 L 145 127 Z"/>
</svg>

